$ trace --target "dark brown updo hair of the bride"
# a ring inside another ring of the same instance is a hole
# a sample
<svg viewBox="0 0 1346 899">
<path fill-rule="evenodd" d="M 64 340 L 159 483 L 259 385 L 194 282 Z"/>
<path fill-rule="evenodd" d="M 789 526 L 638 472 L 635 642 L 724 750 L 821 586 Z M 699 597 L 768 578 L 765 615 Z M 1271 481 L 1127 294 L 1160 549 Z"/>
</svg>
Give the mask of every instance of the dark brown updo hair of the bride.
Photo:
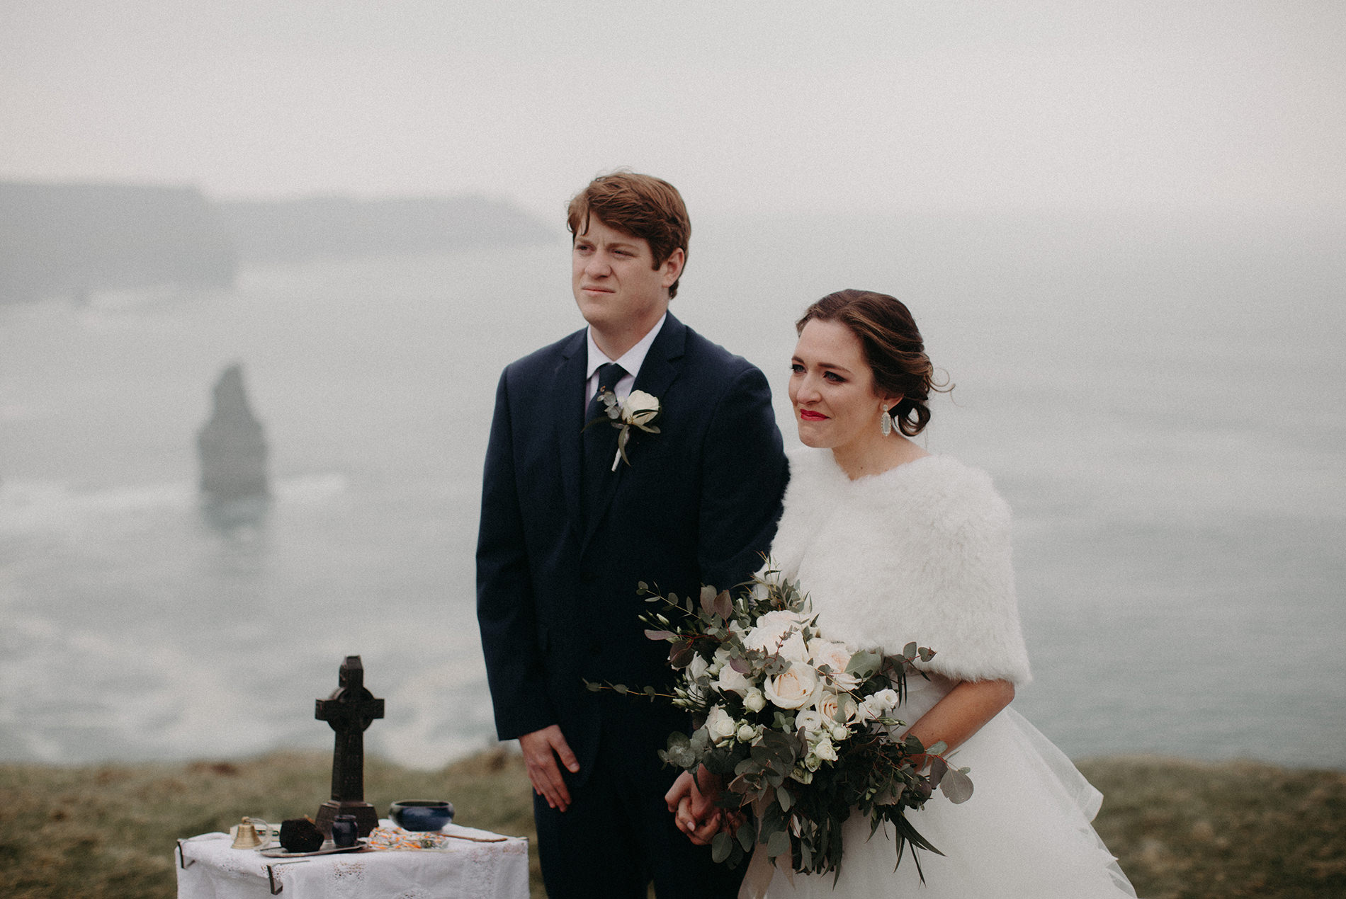
<svg viewBox="0 0 1346 899">
<path fill-rule="evenodd" d="M 837 291 L 805 310 L 794 323 L 795 332 L 817 319 L 839 322 L 860 338 L 864 359 L 874 370 L 876 390 L 900 396 L 888 409 L 892 423 L 907 437 L 914 437 L 930 421 L 926 401 L 931 390 L 952 390 L 934 382 L 934 366 L 925 353 L 911 311 L 895 297 L 874 291 Z"/>
</svg>

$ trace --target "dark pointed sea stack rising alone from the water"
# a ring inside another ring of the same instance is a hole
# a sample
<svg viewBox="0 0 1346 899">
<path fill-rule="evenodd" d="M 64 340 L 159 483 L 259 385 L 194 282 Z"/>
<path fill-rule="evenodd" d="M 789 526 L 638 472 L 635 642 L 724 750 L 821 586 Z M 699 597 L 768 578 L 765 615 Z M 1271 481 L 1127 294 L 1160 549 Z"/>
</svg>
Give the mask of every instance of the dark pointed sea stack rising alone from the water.
<svg viewBox="0 0 1346 899">
<path fill-rule="evenodd" d="M 197 435 L 201 491 L 213 499 L 265 497 L 267 439 L 248 408 L 242 366 L 230 365 L 215 382 L 215 408 Z"/>
</svg>

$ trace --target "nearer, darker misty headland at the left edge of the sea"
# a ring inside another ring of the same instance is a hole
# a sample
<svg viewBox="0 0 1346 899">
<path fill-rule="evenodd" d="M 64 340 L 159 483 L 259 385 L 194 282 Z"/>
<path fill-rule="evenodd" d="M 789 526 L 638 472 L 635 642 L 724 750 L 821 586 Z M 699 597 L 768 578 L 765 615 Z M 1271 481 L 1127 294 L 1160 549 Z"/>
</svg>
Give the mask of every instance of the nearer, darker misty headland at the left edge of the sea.
<svg viewBox="0 0 1346 899">
<path fill-rule="evenodd" d="M 237 254 L 194 187 L 0 182 L 0 301 L 229 287 Z"/>
</svg>

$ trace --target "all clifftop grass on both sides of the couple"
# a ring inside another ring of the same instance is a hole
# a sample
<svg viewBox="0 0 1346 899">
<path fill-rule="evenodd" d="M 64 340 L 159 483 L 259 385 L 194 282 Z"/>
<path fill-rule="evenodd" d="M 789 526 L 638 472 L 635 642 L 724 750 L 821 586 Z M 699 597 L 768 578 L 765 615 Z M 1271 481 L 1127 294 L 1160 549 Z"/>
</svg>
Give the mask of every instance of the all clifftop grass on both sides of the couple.
<svg viewBox="0 0 1346 899">
<path fill-rule="evenodd" d="M 1346 772 L 1156 758 L 1093 759 L 1097 828 L 1145 899 L 1346 895 Z M 175 895 L 174 841 L 315 814 L 330 756 L 51 767 L 0 764 L 0 892 L 12 899 Z M 447 798 L 462 824 L 534 840 L 517 754 L 487 751 L 440 771 L 367 759 L 365 798 Z M 533 896 L 544 896 L 530 860 Z"/>
</svg>

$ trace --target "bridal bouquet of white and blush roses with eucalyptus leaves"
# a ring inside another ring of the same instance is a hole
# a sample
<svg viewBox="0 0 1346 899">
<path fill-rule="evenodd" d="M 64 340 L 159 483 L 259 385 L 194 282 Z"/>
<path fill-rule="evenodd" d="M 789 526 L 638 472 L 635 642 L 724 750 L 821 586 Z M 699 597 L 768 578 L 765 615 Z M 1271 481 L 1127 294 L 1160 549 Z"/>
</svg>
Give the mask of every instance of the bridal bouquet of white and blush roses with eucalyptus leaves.
<svg viewBox="0 0 1346 899">
<path fill-rule="evenodd" d="M 922 807 L 935 786 L 953 802 L 969 798 L 968 768 L 950 767 L 942 743 L 894 736 L 907 670 L 929 661 L 930 649 L 909 643 L 902 655 L 884 655 L 829 641 L 798 583 L 770 565 L 738 596 L 704 587 L 693 602 L 646 584 L 641 594 L 661 604 L 642 616 L 646 637 L 672 643 L 678 678 L 669 698 L 697 723 L 690 736 L 670 735 L 661 758 L 692 772 L 704 766 L 725 785 L 723 806 L 754 813 L 755 824 L 715 836 L 716 861 L 738 864 L 759 847 L 777 865 L 840 873 L 841 824 L 852 809 L 870 818 L 871 833 L 894 826 L 899 864 L 909 844 L 918 872 L 917 849 L 940 852 L 906 810 Z"/>
</svg>

